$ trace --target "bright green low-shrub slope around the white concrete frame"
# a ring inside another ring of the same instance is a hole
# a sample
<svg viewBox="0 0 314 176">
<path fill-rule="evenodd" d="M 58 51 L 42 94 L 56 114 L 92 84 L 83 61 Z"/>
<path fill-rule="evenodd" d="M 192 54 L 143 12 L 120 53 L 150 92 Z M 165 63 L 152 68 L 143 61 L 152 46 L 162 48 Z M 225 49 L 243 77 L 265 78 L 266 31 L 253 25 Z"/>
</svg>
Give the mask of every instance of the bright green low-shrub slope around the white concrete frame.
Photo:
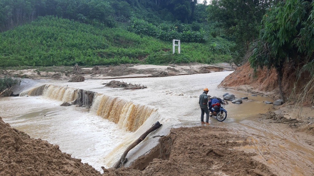
<svg viewBox="0 0 314 176">
<path fill-rule="evenodd" d="M 0 33 L 0 66 L 214 63 L 230 60 L 230 42 L 219 37 L 208 40 L 208 44 L 183 42 L 181 54 L 172 55 L 171 42 L 137 35 L 122 27 L 98 27 L 46 16 Z"/>
</svg>

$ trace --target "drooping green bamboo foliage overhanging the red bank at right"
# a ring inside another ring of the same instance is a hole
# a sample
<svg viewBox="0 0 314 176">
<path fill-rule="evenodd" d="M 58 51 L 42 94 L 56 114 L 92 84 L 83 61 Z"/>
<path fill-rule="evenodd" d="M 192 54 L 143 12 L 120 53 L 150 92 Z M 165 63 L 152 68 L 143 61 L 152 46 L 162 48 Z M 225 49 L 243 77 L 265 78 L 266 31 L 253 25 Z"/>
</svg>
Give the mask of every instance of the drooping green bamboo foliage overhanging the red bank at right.
<svg viewBox="0 0 314 176">
<path fill-rule="evenodd" d="M 252 52 L 251 66 L 276 69 L 279 86 L 286 63 L 294 64 L 299 77 L 307 72 L 310 80 L 304 88 L 304 99 L 314 87 L 314 1 L 287 0 L 269 8 Z"/>
</svg>

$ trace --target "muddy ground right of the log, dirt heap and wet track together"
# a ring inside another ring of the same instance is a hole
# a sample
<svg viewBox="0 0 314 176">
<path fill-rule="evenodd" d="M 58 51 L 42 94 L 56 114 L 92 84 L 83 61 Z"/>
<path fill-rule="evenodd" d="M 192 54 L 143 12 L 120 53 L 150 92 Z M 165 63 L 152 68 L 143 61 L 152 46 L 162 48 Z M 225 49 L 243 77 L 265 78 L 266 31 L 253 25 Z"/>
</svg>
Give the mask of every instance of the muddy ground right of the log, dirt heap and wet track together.
<svg viewBox="0 0 314 176">
<path fill-rule="evenodd" d="M 314 175 L 314 113 L 302 111 L 296 116 L 281 107 L 243 125 L 171 129 L 128 168 L 108 169 L 103 175 Z"/>
</svg>

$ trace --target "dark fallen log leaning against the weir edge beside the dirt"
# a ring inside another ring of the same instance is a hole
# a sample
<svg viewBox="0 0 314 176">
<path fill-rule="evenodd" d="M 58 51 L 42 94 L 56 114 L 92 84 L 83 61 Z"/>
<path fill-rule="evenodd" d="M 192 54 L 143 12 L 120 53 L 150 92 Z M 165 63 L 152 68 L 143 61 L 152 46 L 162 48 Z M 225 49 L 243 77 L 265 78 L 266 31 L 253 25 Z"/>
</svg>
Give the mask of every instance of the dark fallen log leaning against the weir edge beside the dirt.
<svg viewBox="0 0 314 176">
<path fill-rule="evenodd" d="M 127 156 L 127 153 L 132 149 L 134 148 L 135 146 L 137 146 L 140 142 L 142 142 L 145 137 L 157 130 L 162 124 L 160 124 L 159 122 L 156 122 L 152 127 L 150 127 L 146 132 L 144 132 L 144 134 L 142 134 L 142 136 L 140 136 L 136 141 L 134 141 L 125 151 L 124 153 L 122 154 L 121 158 L 119 159 L 119 161 L 112 167 L 112 168 L 120 168 L 121 166 L 123 166 L 124 162 L 126 161 L 126 156 Z"/>
</svg>

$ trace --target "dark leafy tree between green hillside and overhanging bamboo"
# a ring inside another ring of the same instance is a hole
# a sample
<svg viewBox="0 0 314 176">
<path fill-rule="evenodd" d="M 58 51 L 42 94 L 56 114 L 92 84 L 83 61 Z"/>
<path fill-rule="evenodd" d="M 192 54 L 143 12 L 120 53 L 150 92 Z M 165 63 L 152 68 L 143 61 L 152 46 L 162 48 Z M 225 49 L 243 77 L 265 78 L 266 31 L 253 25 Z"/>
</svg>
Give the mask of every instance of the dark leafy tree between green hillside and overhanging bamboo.
<svg viewBox="0 0 314 176">
<path fill-rule="evenodd" d="M 238 45 L 237 62 L 249 50 L 250 42 L 259 34 L 258 26 L 272 0 L 213 0 L 206 9 L 208 21 L 217 22 L 217 27 Z"/>
</svg>

